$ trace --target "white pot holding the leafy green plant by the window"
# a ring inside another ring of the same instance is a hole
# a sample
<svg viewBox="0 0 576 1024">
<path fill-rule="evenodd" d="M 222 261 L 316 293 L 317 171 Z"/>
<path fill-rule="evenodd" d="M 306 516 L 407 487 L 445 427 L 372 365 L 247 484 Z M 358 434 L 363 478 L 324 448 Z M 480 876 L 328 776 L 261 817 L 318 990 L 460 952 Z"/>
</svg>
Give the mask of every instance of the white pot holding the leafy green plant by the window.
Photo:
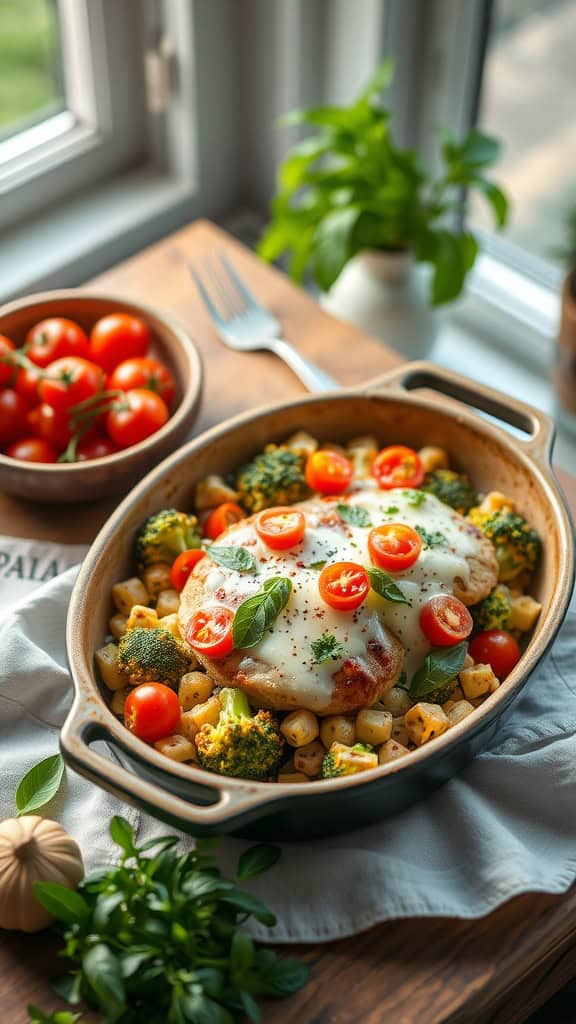
<svg viewBox="0 0 576 1024">
<path fill-rule="evenodd" d="M 408 254 L 367 250 L 346 263 L 321 303 L 406 358 L 419 359 L 429 354 L 438 332 L 427 278 L 427 268 L 415 265 Z"/>
</svg>

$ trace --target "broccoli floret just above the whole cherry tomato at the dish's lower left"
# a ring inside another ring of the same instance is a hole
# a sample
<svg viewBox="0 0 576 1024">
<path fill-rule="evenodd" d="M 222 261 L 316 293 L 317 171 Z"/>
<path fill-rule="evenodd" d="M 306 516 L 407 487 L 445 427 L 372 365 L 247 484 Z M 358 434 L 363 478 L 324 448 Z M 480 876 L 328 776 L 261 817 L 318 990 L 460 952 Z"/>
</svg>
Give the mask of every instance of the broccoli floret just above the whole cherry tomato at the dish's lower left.
<svg viewBox="0 0 576 1024">
<path fill-rule="evenodd" d="M 190 647 L 161 626 L 127 630 L 118 644 L 118 665 L 131 683 L 177 686 L 193 664 Z"/>
</svg>

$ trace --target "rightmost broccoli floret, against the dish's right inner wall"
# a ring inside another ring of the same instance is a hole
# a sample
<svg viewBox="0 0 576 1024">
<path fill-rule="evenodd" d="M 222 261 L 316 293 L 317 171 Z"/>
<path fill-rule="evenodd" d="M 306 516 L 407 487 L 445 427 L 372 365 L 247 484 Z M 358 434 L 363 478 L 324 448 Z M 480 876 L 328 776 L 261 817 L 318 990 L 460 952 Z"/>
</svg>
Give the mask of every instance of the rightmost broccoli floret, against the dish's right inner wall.
<svg viewBox="0 0 576 1024">
<path fill-rule="evenodd" d="M 536 567 L 540 557 L 540 538 L 518 512 L 504 509 L 483 512 L 474 508 L 468 513 L 468 519 L 492 541 L 501 583 L 516 580 L 521 572 L 531 572 Z"/>
</svg>

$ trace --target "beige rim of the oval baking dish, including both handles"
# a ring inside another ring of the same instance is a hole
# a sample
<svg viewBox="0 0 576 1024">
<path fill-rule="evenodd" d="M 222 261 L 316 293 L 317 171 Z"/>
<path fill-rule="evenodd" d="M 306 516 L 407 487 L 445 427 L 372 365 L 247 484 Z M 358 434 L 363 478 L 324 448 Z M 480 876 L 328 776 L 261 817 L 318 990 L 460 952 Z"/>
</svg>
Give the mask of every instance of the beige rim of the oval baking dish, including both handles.
<svg viewBox="0 0 576 1024">
<path fill-rule="evenodd" d="M 417 395 L 411 393 L 414 389 L 418 389 Z M 420 389 L 425 390 L 422 392 Z M 143 806 L 152 813 L 158 811 L 161 817 L 168 815 L 173 820 L 183 821 L 191 826 L 225 825 L 230 830 L 231 822 L 244 819 L 249 811 L 254 817 L 254 811 L 264 805 L 269 813 L 296 797 L 299 801 L 318 800 L 323 793 L 327 793 L 327 786 L 331 792 L 356 786 L 369 788 L 371 785 L 376 785 L 383 775 L 398 772 L 404 773 L 405 776 L 413 774 L 427 760 L 434 759 L 441 751 L 457 742 L 466 733 L 481 731 L 483 722 L 488 717 L 497 716 L 498 708 L 508 701 L 510 692 L 522 688 L 536 664 L 549 648 L 562 625 L 574 583 L 573 526 L 549 462 L 554 425 L 549 417 L 524 402 L 427 362 L 409 364 L 394 370 L 364 388 L 337 391 L 333 392 L 333 395 L 311 396 L 275 408 L 281 411 L 294 406 L 307 406 L 319 400 L 329 401 L 332 396 L 335 399 L 349 395 L 381 398 L 382 393 L 389 394 L 390 398 L 400 397 L 407 406 L 412 404 L 433 412 L 442 409 L 444 414 L 449 410 L 455 419 L 471 427 L 476 432 L 480 431 L 486 437 L 494 438 L 500 445 L 513 449 L 526 472 L 537 477 L 553 511 L 561 548 L 566 554 L 563 564 L 554 566 L 557 600 L 545 620 L 539 623 L 537 633 L 518 667 L 492 695 L 490 701 L 478 708 L 474 716 L 464 719 L 449 732 L 435 739 L 434 744 L 412 752 L 409 758 L 381 765 L 366 775 L 357 774 L 331 780 L 311 781 L 305 786 L 295 783 L 272 785 L 224 778 L 209 775 L 194 766 L 169 762 L 131 735 L 115 718 L 99 693 L 89 654 L 82 643 L 82 624 L 90 613 L 85 595 L 94 566 L 105 555 L 111 537 L 121 528 L 127 512 L 143 495 L 154 489 L 167 471 L 177 467 L 194 452 L 203 450 L 217 438 L 229 434 L 231 430 L 241 430 L 252 420 L 273 411 L 259 409 L 207 431 L 166 459 L 131 492 L 94 541 L 73 592 L 67 630 L 68 655 L 76 692 L 72 710 L 61 731 L 61 748 L 67 760 L 78 771 L 123 799 Z M 494 426 L 468 409 L 468 404 L 525 431 L 526 438 L 511 437 L 504 429 Z M 215 802 L 204 806 L 190 803 L 168 793 L 160 785 L 147 781 L 136 773 L 98 754 L 89 745 L 93 738 L 108 738 L 136 765 L 150 766 L 175 778 L 194 781 L 197 788 L 202 787 L 206 792 L 207 801 L 211 799 Z"/>
</svg>

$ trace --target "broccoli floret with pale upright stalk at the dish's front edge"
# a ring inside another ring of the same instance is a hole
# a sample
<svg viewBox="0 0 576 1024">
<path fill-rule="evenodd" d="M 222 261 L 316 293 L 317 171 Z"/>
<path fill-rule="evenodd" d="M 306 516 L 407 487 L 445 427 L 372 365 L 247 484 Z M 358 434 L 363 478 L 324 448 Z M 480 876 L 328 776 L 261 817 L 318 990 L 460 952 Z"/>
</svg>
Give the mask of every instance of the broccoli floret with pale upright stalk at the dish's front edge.
<svg viewBox="0 0 576 1024">
<path fill-rule="evenodd" d="M 254 715 L 243 690 L 223 689 L 216 725 L 203 725 L 195 736 L 203 768 L 218 775 L 266 778 L 282 756 L 284 739 L 270 711 Z"/>
</svg>

